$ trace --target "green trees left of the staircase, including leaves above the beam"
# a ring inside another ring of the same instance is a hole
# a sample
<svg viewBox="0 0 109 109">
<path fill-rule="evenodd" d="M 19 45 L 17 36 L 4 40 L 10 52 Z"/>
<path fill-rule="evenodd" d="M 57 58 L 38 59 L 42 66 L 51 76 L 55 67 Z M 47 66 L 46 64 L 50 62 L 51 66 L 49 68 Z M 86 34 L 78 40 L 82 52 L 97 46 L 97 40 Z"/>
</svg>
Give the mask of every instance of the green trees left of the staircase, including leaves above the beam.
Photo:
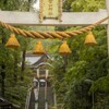
<svg viewBox="0 0 109 109">
<path fill-rule="evenodd" d="M 29 9 L 28 5 L 29 2 L 25 0 L 0 0 L 1 10 L 26 11 Z M 20 28 L 28 29 L 28 27 L 24 26 Z M 15 50 L 8 49 L 5 48 L 5 43 L 10 34 L 8 29 L 0 27 L 0 96 L 3 96 L 2 88 L 4 87 L 4 98 L 24 109 L 27 89 L 32 86 L 33 72 L 26 68 L 24 71 L 24 81 L 21 82 L 21 52 L 27 47 L 29 39 L 26 40 L 20 35 L 15 35 L 23 46 Z M 4 66 L 3 69 L 2 65 Z M 2 77 L 2 72 L 4 78 Z M 3 87 L 2 81 L 4 81 Z"/>
</svg>

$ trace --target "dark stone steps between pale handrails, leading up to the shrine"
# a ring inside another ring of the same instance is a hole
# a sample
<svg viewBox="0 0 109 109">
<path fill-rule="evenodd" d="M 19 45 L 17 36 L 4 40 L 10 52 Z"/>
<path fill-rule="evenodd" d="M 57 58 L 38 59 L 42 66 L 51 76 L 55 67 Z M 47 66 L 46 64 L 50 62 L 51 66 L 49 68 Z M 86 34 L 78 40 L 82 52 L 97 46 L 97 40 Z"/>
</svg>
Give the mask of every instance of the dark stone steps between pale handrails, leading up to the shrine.
<svg viewBox="0 0 109 109">
<path fill-rule="evenodd" d="M 28 108 L 25 109 L 51 109 L 51 107 L 53 106 L 53 92 L 52 92 L 52 87 L 48 86 L 47 87 L 47 107 L 46 107 L 46 99 L 45 99 L 45 85 L 40 85 L 39 86 L 39 93 L 38 93 L 38 102 L 37 106 L 38 108 L 35 108 L 35 88 L 34 87 L 31 89 L 31 97 L 29 97 L 29 105 Z"/>
</svg>

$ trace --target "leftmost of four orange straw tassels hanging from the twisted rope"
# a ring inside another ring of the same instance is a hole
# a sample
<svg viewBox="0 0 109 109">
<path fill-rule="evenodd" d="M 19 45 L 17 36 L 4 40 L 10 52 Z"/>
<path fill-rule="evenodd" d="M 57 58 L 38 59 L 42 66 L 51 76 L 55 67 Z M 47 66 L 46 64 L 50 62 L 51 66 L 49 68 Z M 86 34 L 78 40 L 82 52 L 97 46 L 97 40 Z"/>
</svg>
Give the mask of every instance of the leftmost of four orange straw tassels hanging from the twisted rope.
<svg viewBox="0 0 109 109">
<path fill-rule="evenodd" d="M 19 41 L 17 41 L 17 39 L 16 39 L 16 37 L 15 37 L 14 34 L 12 34 L 10 36 L 10 38 L 9 38 L 8 43 L 5 44 L 5 46 L 8 48 L 14 48 L 14 49 L 17 48 L 17 47 L 20 47 L 20 44 L 19 44 Z"/>
</svg>

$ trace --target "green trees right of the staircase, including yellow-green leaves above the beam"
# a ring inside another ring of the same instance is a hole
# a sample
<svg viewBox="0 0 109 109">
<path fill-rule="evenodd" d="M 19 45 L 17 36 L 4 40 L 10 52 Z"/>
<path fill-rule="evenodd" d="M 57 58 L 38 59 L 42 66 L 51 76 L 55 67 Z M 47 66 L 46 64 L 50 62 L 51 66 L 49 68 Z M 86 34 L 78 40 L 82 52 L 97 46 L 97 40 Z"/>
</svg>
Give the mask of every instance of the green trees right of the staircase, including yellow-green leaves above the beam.
<svg viewBox="0 0 109 109">
<path fill-rule="evenodd" d="M 64 11 L 87 12 L 105 8 L 105 0 L 65 0 Z M 76 27 L 57 27 L 59 31 L 74 31 Z M 109 58 L 107 55 L 106 26 L 93 29 L 97 46 L 87 47 L 87 33 L 66 39 L 72 50 L 68 62 L 55 57 L 52 83 L 58 104 L 62 109 L 108 109 L 109 108 Z M 63 70 L 65 65 L 65 70 Z"/>
</svg>

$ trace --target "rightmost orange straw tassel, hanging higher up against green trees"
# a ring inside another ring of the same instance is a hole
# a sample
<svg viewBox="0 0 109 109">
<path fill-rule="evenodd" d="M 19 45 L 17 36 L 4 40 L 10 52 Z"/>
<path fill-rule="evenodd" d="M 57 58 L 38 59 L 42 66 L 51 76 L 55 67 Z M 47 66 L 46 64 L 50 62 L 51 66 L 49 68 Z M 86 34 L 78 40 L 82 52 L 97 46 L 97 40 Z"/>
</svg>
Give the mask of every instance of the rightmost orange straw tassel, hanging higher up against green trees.
<svg viewBox="0 0 109 109">
<path fill-rule="evenodd" d="M 96 41 L 96 39 L 95 39 L 95 37 L 94 37 L 92 32 L 89 32 L 88 35 L 86 36 L 86 39 L 85 39 L 84 44 L 85 45 L 89 45 L 89 46 L 93 46 L 93 45 L 97 44 L 97 41 Z"/>
</svg>

